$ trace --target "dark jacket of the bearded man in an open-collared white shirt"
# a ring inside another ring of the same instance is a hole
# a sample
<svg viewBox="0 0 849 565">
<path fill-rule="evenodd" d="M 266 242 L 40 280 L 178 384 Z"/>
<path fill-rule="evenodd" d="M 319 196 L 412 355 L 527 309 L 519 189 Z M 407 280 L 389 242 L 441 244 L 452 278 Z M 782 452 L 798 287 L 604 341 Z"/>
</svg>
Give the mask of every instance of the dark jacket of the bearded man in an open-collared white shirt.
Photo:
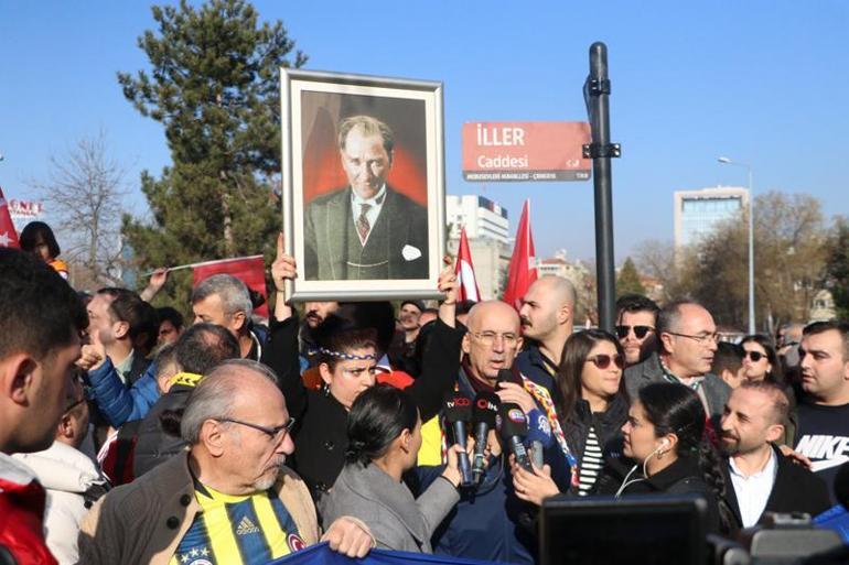
<svg viewBox="0 0 849 565">
<path fill-rule="evenodd" d="M 775 474 L 772 492 L 770 492 L 770 498 L 766 500 L 766 507 L 763 510 L 764 513 L 807 512 L 815 517 L 831 508 L 828 487 L 823 479 L 800 465 L 793 463 L 774 445 L 773 450 L 777 457 L 778 468 Z M 722 472 L 726 475 L 726 501 L 734 513 L 737 528 L 742 528 L 743 519 L 740 515 L 740 504 L 734 491 L 734 485 L 731 482 L 731 472 L 727 458 L 724 459 L 724 465 L 722 465 Z M 763 519 L 763 514 L 761 519 Z"/>
</svg>

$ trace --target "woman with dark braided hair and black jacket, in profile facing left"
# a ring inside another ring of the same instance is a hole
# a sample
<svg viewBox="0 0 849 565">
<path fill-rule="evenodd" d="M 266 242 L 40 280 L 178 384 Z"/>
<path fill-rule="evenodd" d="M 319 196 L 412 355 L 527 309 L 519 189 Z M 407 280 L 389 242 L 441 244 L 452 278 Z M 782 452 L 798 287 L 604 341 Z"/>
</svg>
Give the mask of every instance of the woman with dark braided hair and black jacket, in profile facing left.
<svg viewBox="0 0 849 565">
<path fill-rule="evenodd" d="M 708 501 L 709 529 L 730 530 L 721 459 L 703 438 L 705 406 L 692 389 L 667 382 L 644 387 L 622 434 L 624 457 L 609 461 L 599 479 L 600 493 L 698 492 Z"/>
</svg>

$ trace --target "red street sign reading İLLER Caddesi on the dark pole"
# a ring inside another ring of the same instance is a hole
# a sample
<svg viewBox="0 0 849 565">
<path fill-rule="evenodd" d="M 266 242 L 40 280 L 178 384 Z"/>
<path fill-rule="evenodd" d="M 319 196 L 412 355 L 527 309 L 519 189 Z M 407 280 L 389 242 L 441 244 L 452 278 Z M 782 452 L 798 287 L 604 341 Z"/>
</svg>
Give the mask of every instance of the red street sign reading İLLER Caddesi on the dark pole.
<svg viewBox="0 0 849 565">
<path fill-rule="evenodd" d="M 590 124 L 582 121 L 466 122 L 463 178 L 472 182 L 587 181 Z"/>
</svg>

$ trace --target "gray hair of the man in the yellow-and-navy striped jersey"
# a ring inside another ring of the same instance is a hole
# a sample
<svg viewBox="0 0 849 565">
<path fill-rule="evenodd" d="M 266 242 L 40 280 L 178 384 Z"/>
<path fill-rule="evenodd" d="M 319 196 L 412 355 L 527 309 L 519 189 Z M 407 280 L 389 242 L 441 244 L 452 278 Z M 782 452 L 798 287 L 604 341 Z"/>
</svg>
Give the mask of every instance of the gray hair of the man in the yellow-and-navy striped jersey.
<svg viewBox="0 0 849 565">
<path fill-rule="evenodd" d="M 277 374 L 260 362 L 250 359 L 224 361 L 201 379 L 189 396 L 180 421 L 180 436 L 183 441 L 195 445 L 201 439 L 204 422 L 230 417 L 245 370 L 278 384 Z"/>
</svg>

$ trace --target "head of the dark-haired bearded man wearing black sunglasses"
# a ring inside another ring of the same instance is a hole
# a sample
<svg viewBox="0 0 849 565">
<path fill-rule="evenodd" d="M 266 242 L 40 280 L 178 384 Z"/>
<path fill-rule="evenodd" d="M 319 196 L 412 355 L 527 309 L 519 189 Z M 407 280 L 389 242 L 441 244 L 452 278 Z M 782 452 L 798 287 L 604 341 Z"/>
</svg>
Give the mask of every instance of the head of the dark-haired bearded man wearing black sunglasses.
<svg viewBox="0 0 849 565">
<path fill-rule="evenodd" d="M 616 301 L 616 337 L 625 350 L 625 366 L 644 361 L 657 349 L 655 323 L 660 308 L 641 294 L 624 294 Z"/>
</svg>

